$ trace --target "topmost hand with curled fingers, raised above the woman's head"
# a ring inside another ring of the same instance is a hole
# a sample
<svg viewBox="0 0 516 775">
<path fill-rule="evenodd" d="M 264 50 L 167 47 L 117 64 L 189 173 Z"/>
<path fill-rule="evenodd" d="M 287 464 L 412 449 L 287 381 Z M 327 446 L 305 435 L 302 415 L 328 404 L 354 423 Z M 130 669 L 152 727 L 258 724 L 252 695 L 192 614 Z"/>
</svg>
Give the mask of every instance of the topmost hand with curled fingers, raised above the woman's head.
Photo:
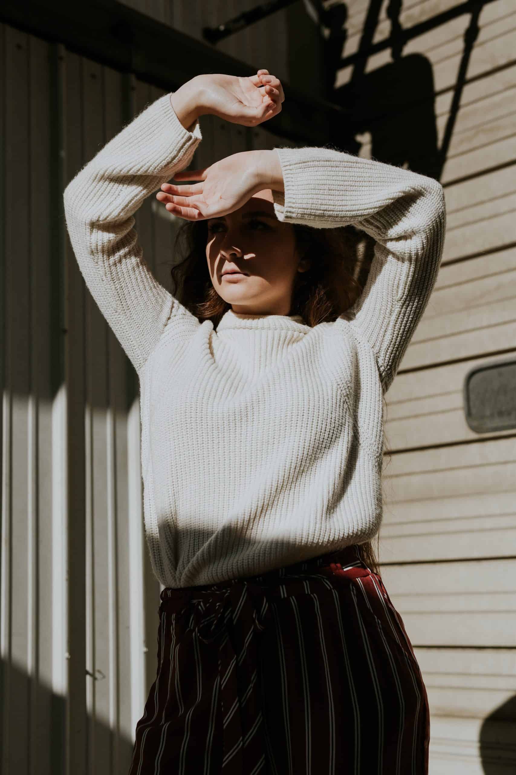
<svg viewBox="0 0 516 775">
<path fill-rule="evenodd" d="M 281 82 L 268 70 L 239 77 L 210 73 L 197 75 L 202 91 L 202 111 L 232 124 L 258 126 L 278 115 L 285 101 Z"/>
</svg>

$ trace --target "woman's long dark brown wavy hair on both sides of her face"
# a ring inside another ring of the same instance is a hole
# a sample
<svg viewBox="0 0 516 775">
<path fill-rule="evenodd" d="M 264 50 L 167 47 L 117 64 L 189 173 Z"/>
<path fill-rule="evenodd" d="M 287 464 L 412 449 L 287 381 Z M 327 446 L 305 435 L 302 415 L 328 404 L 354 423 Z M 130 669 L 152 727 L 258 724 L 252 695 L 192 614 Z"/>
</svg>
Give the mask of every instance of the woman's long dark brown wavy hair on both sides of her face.
<svg viewBox="0 0 516 775">
<path fill-rule="evenodd" d="M 374 256 L 374 240 L 354 226 L 292 226 L 299 257 L 316 260 L 305 272 L 296 272 L 289 315 L 301 315 L 311 327 L 333 322 L 354 305 L 364 290 Z M 211 320 L 216 329 L 231 304 L 217 294 L 211 281 L 207 239 L 206 220 L 185 221 L 179 226 L 174 244 L 174 256 L 179 256 L 179 262 L 170 270 L 171 292 L 200 322 Z M 378 533 L 376 551 L 372 541 L 357 545 L 363 562 L 378 575 L 379 536 Z"/>
</svg>

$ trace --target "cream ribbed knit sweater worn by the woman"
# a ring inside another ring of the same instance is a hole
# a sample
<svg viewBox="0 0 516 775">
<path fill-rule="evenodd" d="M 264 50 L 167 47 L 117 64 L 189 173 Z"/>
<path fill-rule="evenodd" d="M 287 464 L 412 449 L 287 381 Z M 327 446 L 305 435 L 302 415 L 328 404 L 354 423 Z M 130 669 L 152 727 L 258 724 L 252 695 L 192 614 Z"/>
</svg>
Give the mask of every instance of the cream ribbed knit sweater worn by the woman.
<svg viewBox="0 0 516 775">
<path fill-rule="evenodd" d="M 87 288 L 140 382 L 145 534 L 167 587 L 213 584 L 371 539 L 381 524 L 382 394 L 429 300 L 443 189 L 329 148 L 277 148 L 278 219 L 376 240 L 361 298 L 335 322 L 229 310 L 217 330 L 155 280 L 134 213 L 202 136 L 163 95 L 67 185 Z M 160 260 L 166 257 L 159 257 Z"/>
</svg>

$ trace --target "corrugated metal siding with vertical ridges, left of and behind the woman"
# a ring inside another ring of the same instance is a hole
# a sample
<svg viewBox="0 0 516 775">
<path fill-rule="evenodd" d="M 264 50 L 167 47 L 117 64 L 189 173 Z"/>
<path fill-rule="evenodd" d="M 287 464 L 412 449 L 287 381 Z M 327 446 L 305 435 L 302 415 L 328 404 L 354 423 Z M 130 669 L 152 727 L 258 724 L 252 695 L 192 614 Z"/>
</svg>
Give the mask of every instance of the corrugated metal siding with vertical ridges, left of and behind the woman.
<svg viewBox="0 0 516 775">
<path fill-rule="evenodd" d="M 87 291 L 63 190 L 164 91 L 2 26 L 0 761 L 16 775 L 126 773 L 156 672 L 138 380 Z M 192 167 L 285 142 L 201 119 Z M 179 222 L 136 229 L 170 288 Z M 182 221 L 180 221 L 182 222 Z"/>
</svg>

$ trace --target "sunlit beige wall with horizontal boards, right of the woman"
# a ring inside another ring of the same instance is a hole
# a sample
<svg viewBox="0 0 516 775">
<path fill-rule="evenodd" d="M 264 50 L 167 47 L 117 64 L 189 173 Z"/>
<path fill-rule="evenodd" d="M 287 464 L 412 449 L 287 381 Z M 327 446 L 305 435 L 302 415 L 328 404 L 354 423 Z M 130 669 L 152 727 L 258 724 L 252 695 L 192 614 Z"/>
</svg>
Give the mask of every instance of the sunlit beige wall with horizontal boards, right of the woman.
<svg viewBox="0 0 516 775">
<path fill-rule="evenodd" d="M 343 57 L 356 52 L 370 4 L 346 5 Z M 405 0 L 399 22 L 407 29 L 456 5 Z M 391 32 L 387 9 L 385 0 L 373 43 Z M 470 19 L 441 24 L 402 52 L 432 66 L 439 147 Z M 473 432 L 463 407 L 468 370 L 516 356 L 514 0 L 484 5 L 479 26 L 440 176 L 443 263 L 386 395 L 382 576 L 429 692 L 430 775 L 516 772 L 516 429 Z M 391 56 L 368 57 L 365 72 Z M 352 64 L 337 71 L 336 98 L 352 74 Z M 408 108 L 399 122 L 413 120 Z M 392 119 L 384 131 L 397 131 Z M 398 130 L 410 137 L 406 126 Z M 381 134 L 381 121 L 374 131 Z M 371 137 L 361 141 L 370 156 Z"/>
</svg>

